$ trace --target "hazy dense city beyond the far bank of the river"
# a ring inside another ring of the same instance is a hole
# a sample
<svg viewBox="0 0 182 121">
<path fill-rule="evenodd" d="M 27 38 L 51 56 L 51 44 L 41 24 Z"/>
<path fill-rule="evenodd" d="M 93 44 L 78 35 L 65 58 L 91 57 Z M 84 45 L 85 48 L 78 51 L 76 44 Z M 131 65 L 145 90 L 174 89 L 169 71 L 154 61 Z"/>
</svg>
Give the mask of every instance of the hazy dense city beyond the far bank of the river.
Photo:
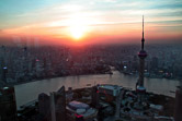
<svg viewBox="0 0 182 121">
<path fill-rule="evenodd" d="M 182 77 L 181 46 L 147 45 L 146 48 L 149 55 L 145 63 L 146 77 Z M 139 46 L 137 45 L 75 48 L 1 47 L 1 50 L 4 50 L 0 53 L 3 83 L 14 84 L 55 76 L 110 73 L 109 65 L 114 65 L 125 74 L 138 75 L 139 59 L 136 57 L 136 51 L 139 50 Z"/>
</svg>

